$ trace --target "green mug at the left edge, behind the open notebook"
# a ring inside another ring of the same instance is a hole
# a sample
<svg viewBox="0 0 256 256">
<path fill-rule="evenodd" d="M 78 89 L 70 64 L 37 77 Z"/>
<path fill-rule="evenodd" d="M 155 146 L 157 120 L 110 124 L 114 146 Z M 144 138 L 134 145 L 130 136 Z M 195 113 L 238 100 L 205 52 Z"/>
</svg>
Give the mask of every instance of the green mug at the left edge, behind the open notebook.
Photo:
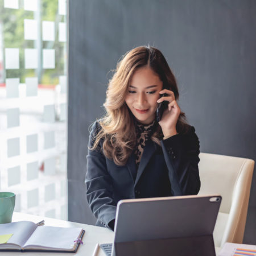
<svg viewBox="0 0 256 256">
<path fill-rule="evenodd" d="M 0 192 L 0 224 L 10 223 L 13 217 L 15 194 Z"/>
</svg>

